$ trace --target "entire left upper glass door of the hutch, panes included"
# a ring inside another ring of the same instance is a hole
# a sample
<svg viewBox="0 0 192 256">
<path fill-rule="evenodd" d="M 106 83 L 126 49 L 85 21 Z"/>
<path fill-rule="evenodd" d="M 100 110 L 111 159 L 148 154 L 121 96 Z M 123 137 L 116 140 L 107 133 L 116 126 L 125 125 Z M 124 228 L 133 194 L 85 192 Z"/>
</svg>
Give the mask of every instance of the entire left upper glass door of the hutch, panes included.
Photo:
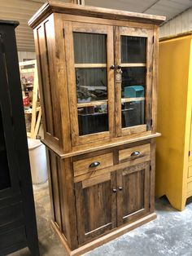
<svg viewBox="0 0 192 256">
<path fill-rule="evenodd" d="M 109 139 L 114 136 L 113 29 L 72 22 L 65 30 L 72 143 Z"/>
</svg>

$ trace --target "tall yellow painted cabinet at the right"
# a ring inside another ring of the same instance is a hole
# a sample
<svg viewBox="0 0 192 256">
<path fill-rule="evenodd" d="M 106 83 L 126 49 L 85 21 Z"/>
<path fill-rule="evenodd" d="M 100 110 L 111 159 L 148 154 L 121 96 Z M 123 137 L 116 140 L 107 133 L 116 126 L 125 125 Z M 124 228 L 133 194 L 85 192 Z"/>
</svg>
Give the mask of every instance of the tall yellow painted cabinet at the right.
<svg viewBox="0 0 192 256">
<path fill-rule="evenodd" d="M 192 196 L 192 33 L 159 42 L 156 196 L 183 210 Z"/>
</svg>

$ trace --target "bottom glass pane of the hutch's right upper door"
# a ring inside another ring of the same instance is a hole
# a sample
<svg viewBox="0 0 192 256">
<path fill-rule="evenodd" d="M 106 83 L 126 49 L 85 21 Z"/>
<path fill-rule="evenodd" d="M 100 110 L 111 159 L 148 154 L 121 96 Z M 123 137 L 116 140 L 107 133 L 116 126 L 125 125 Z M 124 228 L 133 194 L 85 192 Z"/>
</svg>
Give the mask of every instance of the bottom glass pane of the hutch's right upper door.
<svg viewBox="0 0 192 256">
<path fill-rule="evenodd" d="M 121 122 L 122 128 L 143 125 L 145 123 L 145 100 L 122 103 Z"/>
</svg>

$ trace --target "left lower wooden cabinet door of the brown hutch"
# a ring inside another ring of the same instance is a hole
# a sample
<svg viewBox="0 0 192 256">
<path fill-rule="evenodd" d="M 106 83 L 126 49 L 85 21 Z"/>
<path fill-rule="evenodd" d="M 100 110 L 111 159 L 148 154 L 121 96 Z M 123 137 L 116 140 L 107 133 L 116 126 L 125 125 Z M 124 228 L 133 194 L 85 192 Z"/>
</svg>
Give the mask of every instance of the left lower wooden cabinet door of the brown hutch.
<svg viewBox="0 0 192 256">
<path fill-rule="evenodd" d="M 116 171 L 75 183 L 79 244 L 116 227 Z"/>
</svg>

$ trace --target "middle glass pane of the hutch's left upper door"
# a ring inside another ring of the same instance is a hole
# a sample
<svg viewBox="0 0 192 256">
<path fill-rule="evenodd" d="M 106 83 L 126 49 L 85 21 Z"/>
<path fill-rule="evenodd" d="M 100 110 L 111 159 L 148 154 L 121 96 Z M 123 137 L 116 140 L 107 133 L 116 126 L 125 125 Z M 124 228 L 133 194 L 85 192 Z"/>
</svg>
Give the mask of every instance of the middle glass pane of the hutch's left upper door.
<svg viewBox="0 0 192 256">
<path fill-rule="evenodd" d="M 76 68 L 77 103 L 107 99 L 106 68 Z"/>
</svg>

